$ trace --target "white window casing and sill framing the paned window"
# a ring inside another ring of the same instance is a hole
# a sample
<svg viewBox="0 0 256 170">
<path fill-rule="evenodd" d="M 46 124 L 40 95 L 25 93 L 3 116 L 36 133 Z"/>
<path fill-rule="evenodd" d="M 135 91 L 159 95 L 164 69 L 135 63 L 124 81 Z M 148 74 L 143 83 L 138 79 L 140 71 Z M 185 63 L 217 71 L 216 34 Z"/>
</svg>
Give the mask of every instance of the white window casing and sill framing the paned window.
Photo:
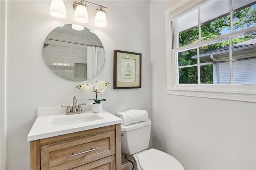
<svg viewBox="0 0 256 170">
<path fill-rule="evenodd" d="M 176 83 L 177 62 L 175 52 L 172 49 L 173 44 L 171 39 L 172 30 L 170 25 L 170 18 L 176 18 L 180 14 L 190 12 L 195 7 L 205 2 L 206 0 L 179 1 L 174 4 L 174 6 L 168 8 L 165 11 L 167 94 L 256 103 L 256 85 L 212 85 Z M 235 32 L 234 34 L 239 34 L 239 31 Z M 212 39 L 209 41 L 212 41 Z"/>
</svg>

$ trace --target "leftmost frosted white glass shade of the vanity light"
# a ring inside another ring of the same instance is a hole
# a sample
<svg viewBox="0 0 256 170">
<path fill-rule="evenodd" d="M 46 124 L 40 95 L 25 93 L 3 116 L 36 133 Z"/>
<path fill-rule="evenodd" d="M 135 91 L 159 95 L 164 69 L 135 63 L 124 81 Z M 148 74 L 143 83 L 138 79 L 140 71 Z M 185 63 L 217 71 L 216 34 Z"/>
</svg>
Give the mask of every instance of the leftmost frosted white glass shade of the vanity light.
<svg viewBox="0 0 256 170">
<path fill-rule="evenodd" d="M 66 8 L 63 0 L 52 0 L 50 14 L 56 18 L 66 18 Z"/>
</svg>

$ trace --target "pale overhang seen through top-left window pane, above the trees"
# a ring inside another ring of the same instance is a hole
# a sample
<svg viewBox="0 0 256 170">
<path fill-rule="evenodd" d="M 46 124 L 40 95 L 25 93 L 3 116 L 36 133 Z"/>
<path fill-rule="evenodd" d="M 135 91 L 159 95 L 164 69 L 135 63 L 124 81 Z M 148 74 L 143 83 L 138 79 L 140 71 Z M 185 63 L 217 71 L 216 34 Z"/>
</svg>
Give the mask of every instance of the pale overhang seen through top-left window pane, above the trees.
<svg viewBox="0 0 256 170">
<path fill-rule="evenodd" d="M 198 26 L 198 13 L 197 9 L 185 14 L 178 18 L 178 32 L 182 32 L 184 30 L 188 30 Z"/>
</svg>

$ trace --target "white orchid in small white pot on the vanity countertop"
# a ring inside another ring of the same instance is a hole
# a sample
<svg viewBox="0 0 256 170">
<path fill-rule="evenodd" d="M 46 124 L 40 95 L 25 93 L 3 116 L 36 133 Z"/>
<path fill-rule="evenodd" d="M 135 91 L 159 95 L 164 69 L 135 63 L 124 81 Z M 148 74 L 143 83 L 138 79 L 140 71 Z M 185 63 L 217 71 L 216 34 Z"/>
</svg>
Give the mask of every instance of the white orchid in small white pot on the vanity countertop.
<svg viewBox="0 0 256 170">
<path fill-rule="evenodd" d="M 82 85 L 78 85 L 76 88 L 78 89 L 87 89 L 90 90 L 92 92 L 94 92 L 96 94 L 96 99 L 89 99 L 89 100 L 93 100 L 93 111 L 94 112 L 100 112 L 102 110 L 102 103 L 101 101 L 106 101 L 106 99 L 98 99 L 98 93 L 103 94 L 107 88 L 107 85 L 109 85 L 108 82 L 106 81 L 96 81 L 95 84 L 90 85 L 87 83 L 84 83 Z"/>
</svg>

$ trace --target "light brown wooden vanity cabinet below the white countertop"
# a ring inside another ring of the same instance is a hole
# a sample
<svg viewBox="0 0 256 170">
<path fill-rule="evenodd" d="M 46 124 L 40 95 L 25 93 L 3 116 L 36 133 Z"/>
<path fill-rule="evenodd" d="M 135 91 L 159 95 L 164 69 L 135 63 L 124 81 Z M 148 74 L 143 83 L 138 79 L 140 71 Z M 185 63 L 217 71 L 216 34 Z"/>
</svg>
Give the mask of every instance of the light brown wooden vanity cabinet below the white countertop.
<svg viewBox="0 0 256 170">
<path fill-rule="evenodd" d="M 31 170 L 121 170 L 120 124 L 30 141 Z"/>
</svg>

